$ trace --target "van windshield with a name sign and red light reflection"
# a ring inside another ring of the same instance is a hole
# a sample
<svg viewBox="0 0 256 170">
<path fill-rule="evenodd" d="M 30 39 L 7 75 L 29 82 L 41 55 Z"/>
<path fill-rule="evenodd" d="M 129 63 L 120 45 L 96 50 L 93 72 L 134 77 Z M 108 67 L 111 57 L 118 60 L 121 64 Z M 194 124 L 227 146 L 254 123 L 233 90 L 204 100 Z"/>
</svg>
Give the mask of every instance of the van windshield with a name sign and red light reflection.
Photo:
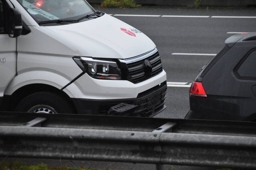
<svg viewBox="0 0 256 170">
<path fill-rule="evenodd" d="M 78 20 L 96 11 L 84 0 L 18 0 L 37 23 Z"/>
</svg>

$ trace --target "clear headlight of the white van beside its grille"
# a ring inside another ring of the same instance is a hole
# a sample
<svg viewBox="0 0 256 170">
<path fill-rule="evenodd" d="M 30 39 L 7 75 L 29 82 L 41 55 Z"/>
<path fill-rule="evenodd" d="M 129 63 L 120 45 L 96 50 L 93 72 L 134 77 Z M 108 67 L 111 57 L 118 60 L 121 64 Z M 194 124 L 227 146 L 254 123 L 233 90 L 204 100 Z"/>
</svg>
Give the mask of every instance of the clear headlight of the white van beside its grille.
<svg viewBox="0 0 256 170">
<path fill-rule="evenodd" d="M 121 70 L 114 61 L 109 59 L 98 60 L 90 57 L 79 56 L 73 57 L 73 60 L 83 72 L 86 72 L 92 78 L 121 80 Z"/>
</svg>

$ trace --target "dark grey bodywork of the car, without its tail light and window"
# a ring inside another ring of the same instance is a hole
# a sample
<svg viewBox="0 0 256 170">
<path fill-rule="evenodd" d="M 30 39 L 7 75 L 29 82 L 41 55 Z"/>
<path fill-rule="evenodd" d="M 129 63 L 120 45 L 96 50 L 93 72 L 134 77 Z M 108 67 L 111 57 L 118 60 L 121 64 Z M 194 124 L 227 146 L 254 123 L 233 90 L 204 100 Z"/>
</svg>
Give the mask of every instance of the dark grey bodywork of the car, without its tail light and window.
<svg viewBox="0 0 256 170">
<path fill-rule="evenodd" d="M 249 36 L 237 38 L 239 40 L 202 77 L 208 98 L 190 97 L 190 111 L 186 118 L 237 121 L 256 119 L 251 116 L 256 113 L 256 80 L 241 79 L 236 75 L 238 65 L 256 47 L 255 40 L 244 40 L 255 35 L 250 33 Z"/>
</svg>

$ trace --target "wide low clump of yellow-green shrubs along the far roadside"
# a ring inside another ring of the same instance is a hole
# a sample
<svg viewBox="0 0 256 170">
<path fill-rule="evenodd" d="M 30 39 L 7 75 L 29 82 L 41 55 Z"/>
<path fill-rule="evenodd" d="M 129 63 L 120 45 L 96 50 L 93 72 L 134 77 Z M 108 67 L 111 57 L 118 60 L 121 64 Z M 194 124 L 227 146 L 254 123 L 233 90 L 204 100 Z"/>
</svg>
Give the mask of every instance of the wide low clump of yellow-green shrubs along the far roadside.
<svg viewBox="0 0 256 170">
<path fill-rule="evenodd" d="M 100 6 L 108 8 L 138 8 L 141 5 L 136 4 L 134 0 L 104 0 Z"/>
</svg>

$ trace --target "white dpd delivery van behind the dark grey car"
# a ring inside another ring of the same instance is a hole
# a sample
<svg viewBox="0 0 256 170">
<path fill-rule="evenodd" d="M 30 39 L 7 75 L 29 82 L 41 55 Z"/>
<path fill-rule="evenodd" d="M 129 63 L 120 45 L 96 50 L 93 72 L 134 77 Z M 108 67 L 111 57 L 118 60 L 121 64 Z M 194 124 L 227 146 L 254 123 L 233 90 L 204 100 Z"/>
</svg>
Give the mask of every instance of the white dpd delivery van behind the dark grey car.
<svg viewBox="0 0 256 170">
<path fill-rule="evenodd" d="M 155 44 L 84 0 L 0 0 L 2 111 L 152 117 L 166 108 Z"/>
</svg>

